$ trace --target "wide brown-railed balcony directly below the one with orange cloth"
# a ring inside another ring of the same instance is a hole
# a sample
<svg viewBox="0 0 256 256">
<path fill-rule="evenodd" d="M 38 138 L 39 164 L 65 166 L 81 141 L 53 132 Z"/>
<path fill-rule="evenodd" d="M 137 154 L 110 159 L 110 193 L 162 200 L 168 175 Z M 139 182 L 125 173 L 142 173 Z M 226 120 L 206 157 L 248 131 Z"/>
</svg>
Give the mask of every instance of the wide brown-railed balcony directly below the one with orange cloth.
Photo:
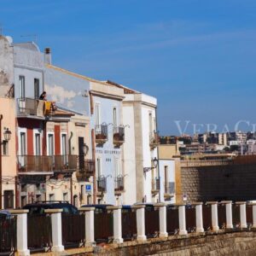
<svg viewBox="0 0 256 256">
<path fill-rule="evenodd" d="M 18 172 L 53 172 L 53 158 L 46 155 L 17 156 Z"/>
</svg>

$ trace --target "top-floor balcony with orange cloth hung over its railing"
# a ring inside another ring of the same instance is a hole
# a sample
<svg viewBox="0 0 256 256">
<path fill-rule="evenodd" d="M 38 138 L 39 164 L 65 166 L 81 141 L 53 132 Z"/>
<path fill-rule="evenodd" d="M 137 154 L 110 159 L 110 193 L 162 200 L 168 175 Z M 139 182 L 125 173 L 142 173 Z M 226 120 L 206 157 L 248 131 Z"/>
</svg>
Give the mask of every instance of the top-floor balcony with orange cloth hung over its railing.
<svg viewBox="0 0 256 256">
<path fill-rule="evenodd" d="M 35 116 L 44 118 L 55 113 L 54 102 L 40 101 L 32 98 L 17 99 L 17 115 L 19 117 Z"/>
</svg>

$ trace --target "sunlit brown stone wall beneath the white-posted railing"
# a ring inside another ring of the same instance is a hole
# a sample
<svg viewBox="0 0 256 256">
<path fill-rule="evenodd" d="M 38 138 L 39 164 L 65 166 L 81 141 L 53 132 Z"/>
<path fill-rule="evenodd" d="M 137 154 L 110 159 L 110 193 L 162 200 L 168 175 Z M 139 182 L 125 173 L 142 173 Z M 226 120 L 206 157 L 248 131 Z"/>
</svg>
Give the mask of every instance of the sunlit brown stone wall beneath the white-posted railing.
<svg viewBox="0 0 256 256">
<path fill-rule="evenodd" d="M 106 247 L 94 247 L 93 253 L 68 252 L 67 255 L 101 255 L 101 256 L 253 256 L 256 255 L 256 233 L 243 231 L 235 233 L 218 233 L 212 235 L 172 236 L 165 240 L 159 238 L 151 241 L 129 241 L 124 244 L 112 244 Z"/>
</svg>

